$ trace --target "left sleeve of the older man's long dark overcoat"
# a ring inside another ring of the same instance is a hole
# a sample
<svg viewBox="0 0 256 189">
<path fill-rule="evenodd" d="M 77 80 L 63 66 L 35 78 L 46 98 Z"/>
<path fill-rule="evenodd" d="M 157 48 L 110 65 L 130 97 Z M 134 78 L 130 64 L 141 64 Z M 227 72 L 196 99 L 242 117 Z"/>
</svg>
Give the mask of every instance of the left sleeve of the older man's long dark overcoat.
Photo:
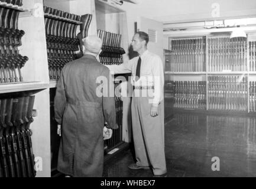
<svg viewBox="0 0 256 189">
<path fill-rule="evenodd" d="M 61 71 L 60 79 L 57 82 L 56 96 L 54 97 L 55 120 L 59 125 L 62 123 L 63 112 L 67 103 L 63 71 Z"/>
</svg>

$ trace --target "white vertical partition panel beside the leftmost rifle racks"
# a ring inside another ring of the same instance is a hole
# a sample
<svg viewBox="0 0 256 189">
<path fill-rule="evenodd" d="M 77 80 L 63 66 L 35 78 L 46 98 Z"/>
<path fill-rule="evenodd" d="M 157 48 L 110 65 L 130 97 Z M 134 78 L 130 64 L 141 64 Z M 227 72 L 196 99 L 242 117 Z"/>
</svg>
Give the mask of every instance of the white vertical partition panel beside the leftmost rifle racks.
<svg viewBox="0 0 256 189">
<path fill-rule="evenodd" d="M 33 15 L 19 17 L 18 29 L 24 30 L 22 45 L 19 47 L 22 56 L 28 61 L 22 68 L 22 75 L 26 82 L 43 82 L 48 84 L 48 62 L 46 48 L 46 34 L 44 32 L 43 1 L 23 1 L 24 8 L 34 9 Z M 37 177 L 51 176 L 50 161 L 50 98 L 49 89 L 35 94 L 34 109 L 37 116 L 30 128 L 35 155 L 35 168 Z"/>
</svg>

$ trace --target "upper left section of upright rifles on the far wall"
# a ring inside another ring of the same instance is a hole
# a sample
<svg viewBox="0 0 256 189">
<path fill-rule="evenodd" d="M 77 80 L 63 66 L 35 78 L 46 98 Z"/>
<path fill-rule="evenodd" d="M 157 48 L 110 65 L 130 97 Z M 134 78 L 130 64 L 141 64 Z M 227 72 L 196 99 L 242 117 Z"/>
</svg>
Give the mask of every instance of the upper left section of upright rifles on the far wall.
<svg viewBox="0 0 256 189">
<path fill-rule="evenodd" d="M 170 71 L 206 71 L 206 38 L 170 41 Z"/>
</svg>

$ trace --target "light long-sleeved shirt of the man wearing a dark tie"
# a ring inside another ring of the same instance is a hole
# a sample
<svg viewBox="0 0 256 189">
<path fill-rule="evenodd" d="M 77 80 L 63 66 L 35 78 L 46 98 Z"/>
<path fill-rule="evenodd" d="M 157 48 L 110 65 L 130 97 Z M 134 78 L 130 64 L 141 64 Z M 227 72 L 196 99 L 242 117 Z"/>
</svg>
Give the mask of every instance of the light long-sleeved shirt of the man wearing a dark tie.
<svg viewBox="0 0 256 189">
<path fill-rule="evenodd" d="M 163 63 L 159 56 L 150 51 L 145 51 L 140 55 L 141 57 L 141 70 L 140 79 L 137 81 L 136 69 L 139 57 L 134 57 L 131 60 L 120 64 L 107 66 L 111 73 L 121 74 L 121 73 L 132 73 L 131 84 L 133 86 L 154 86 L 154 97 L 153 103 L 159 104 L 163 100 L 164 93 L 164 69 Z"/>
</svg>

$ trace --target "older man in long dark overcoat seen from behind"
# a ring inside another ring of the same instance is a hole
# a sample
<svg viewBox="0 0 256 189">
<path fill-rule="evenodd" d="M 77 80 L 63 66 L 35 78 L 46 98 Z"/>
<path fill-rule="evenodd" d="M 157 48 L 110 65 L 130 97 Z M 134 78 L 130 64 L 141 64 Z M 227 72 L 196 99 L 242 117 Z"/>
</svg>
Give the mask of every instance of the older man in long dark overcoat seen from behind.
<svg viewBox="0 0 256 189">
<path fill-rule="evenodd" d="M 83 42 L 84 56 L 66 64 L 57 83 L 54 109 L 61 135 L 57 170 L 71 177 L 102 177 L 103 139 L 118 127 L 115 99 L 102 93 L 109 92 L 109 69 L 96 60 L 101 39 L 88 36 Z"/>
</svg>

